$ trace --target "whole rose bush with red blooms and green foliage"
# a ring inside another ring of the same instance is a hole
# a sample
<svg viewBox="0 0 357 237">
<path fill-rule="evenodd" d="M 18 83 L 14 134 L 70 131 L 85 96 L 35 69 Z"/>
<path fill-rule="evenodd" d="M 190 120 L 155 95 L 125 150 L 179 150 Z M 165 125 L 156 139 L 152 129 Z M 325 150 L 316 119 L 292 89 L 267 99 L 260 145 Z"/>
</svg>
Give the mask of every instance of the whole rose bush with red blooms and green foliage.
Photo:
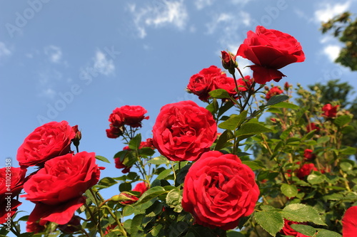
<svg viewBox="0 0 357 237">
<path fill-rule="evenodd" d="M 17 156 L 19 166 L 36 170 L 25 177 L 25 169 L 7 169 L 13 179 L 1 186 L 1 198 L 11 200 L 0 201 L 0 216 L 12 219 L 0 236 L 354 234 L 357 165 L 351 155 L 357 150 L 343 139 L 355 131 L 353 113 L 339 100 L 323 101 L 318 87 L 263 85 L 280 80 L 278 69 L 304 60 L 293 36 L 258 26 L 237 52 L 254 63 L 253 77 L 241 73 L 236 55 L 221 51 L 231 77 L 211 65 L 189 78 L 188 92 L 206 107 L 190 100 L 164 105 L 153 139 L 143 141 L 139 133 L 149 119 L 144 107 L 111 112 L 106 135 L 124 142 L 111 159 L 122 169 L 114 177 L 99 179 L 95 162 L 110 159 L 79 152 L 78 126 L 62 121 L 37 128 Z M 19 196 L 22 186 L 26 194 Z M 19 198 L 34 202 L 29 216 L 17 216 Z M 23 221 L 29 233 L 21 233 Z"/>
</svg>

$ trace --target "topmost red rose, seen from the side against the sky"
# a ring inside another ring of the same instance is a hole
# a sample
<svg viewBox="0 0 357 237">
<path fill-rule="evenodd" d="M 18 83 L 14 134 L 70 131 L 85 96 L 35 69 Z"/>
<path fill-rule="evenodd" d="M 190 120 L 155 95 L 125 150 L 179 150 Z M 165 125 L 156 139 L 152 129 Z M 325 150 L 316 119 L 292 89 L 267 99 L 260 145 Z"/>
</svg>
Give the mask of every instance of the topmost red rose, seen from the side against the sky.
<svg viewBox="0 0 357 237">
<path fill-rule="evenodd" d="M 251 70 L 254 80 L 259 84 L 281 80 L 285 75 L 278 69 L 305 60 L 301 45 L 293 36 L 263 26 L 256 26 L 256 33 L 248 31 L 247 38 L 238 48 L 237 56 L 255 64 Z"/>
</svg>

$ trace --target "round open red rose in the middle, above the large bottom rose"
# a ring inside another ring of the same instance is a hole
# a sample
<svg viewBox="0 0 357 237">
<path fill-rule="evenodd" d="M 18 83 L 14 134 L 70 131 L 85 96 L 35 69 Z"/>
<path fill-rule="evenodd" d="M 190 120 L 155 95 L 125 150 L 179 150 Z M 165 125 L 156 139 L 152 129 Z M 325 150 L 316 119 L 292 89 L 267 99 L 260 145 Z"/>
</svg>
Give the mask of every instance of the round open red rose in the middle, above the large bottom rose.
<svg viewBox="0 0 357 237">
<path fill-rule="evenodd" d="M 161 107 L 153 127 L 154 147 L 172 161 L 193 161 L 216 140 L 211 113 L 191 100 Z"/>
</svg>

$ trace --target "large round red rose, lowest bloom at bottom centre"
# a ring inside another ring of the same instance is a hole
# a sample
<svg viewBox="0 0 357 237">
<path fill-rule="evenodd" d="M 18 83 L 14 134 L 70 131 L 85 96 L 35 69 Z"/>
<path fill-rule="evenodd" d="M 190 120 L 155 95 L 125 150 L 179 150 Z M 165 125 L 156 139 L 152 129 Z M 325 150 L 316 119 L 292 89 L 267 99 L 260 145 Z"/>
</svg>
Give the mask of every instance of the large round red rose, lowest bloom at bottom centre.
<svg viewBox="0 0 357 237">
<path fill-rule="evenodd" d="M 234 154 L 203 153 L 186 175 L 182 207 L 196 223 L 228 230 L 253 213 L 259 188 L 253 171 Z"/>
</svg>

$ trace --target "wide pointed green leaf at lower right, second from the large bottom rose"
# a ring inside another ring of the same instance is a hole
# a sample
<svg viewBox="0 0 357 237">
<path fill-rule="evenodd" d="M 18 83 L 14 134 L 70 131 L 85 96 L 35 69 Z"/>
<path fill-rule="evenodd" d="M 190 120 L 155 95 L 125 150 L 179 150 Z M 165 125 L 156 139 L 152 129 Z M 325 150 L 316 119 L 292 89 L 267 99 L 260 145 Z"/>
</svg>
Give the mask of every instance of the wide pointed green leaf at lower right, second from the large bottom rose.
<svg viewBox="0 0 357 237">
<path fill-rule="evenodd" d="M 316 223 L 316 225 L 327 226 L 326 223 L 322 221 L 318 211 L 313 209 L 312 206 L 307 206 L 305 204 L 290 204 L 281 211 L 281 215 L 290 221 L 311 221 Z"/>
</svg>

